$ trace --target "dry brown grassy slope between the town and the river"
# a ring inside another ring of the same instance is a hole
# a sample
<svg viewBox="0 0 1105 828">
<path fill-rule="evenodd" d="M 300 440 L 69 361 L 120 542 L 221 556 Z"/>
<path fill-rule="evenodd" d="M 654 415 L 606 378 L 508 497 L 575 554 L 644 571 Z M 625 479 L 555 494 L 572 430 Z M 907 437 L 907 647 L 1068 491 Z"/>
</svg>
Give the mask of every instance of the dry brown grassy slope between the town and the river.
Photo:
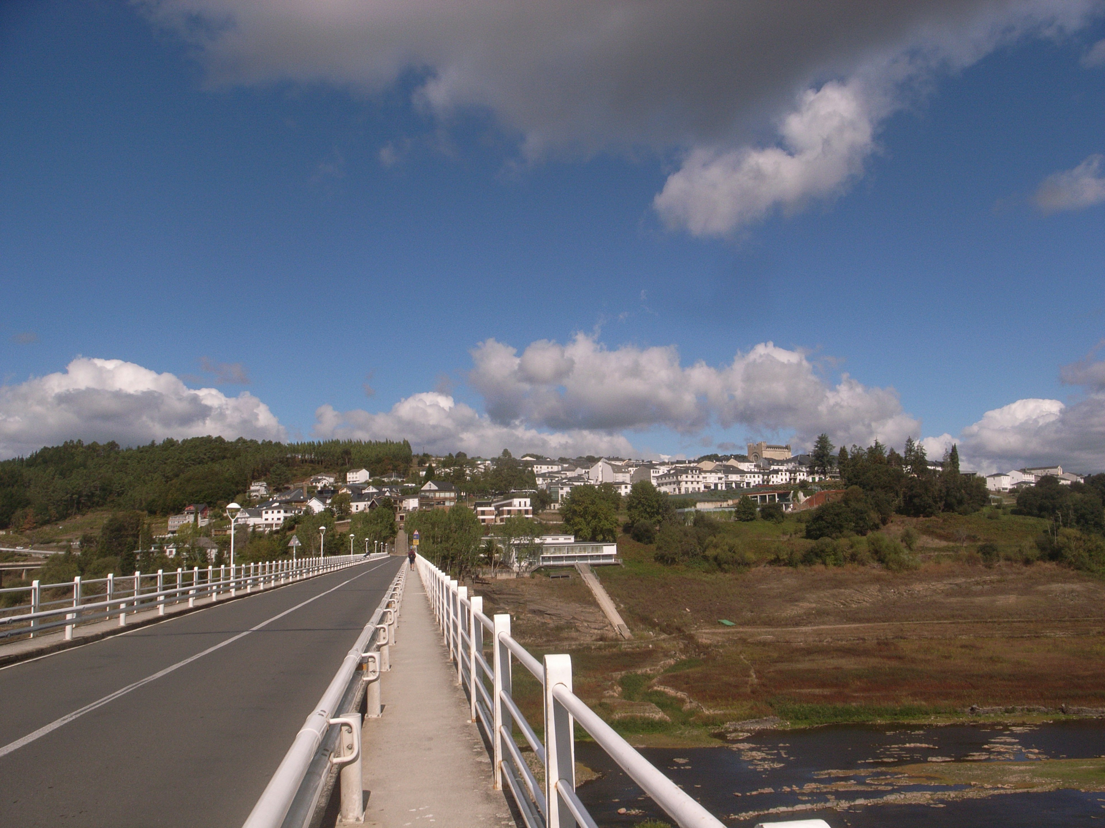
<svg viewBox="0 0 1105 828">
<path fill-rule="evenodd" d="M 934 550 L 978 538 L 1014 546 L 1039 531 L 1025 520 L 953 516 L 895 521 L 891 531 L 912 522 Z M 787 524 L 753 527 L 765 542 L 796 542 Z M 617 722 L 638 743 L 702 743 L 718 722 L 770 714 L 815 723 L 948 720 L 972 704 L 1105 708 L 1105 582 L 1084 573 L 1051 563 L 986 567 L 961 554 L 902 573 L 769 565 L 719 573 L 662 566 L 628 538 L 619 552 L 624 566 L 599 576 L 632 641 L 613 639 L 575 576 L 476 592 L 514 616 L 516 637 L 535 654 L 570 652 L 576 691 L 600 712 L 611 708 L 603 700 L 632 697 L 671 719 Z M 627 673 L 643 677 L 632 693 Z M 537 682 L 523 677 L 517 690 L 539 721 Z"/>
</svg>

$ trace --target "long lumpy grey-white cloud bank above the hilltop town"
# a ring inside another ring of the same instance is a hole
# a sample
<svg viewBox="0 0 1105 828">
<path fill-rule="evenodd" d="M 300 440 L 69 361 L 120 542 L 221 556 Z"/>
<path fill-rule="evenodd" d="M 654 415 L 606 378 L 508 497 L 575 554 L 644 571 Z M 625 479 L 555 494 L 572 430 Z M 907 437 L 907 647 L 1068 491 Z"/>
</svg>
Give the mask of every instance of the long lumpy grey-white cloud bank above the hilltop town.
<svg viewBox="0 0 1105 828">
<path fill-rule="evenodd" d="M 828 432 L 836 443 L 902 443 L 919 423 L 893 389 L 844 374 L 818 375 L 806 353 L 764 342 L 719 367 L 684 368 L 674 346 L 607 349 L 577 333 L 567 344 L 540 340 L 520 355 L 488 339 L 472 351 L 469 376 L 499 424 L 613 432 L 663 426 L 697 434 L 711 425 L 791 432 L 800 443 Z"/>
</svg>

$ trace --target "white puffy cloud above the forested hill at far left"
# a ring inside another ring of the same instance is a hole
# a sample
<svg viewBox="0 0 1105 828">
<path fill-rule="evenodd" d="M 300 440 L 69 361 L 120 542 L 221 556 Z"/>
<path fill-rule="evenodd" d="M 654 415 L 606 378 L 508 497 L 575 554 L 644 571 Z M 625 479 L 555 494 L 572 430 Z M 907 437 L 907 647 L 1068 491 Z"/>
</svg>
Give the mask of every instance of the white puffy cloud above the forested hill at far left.
<svg viewBox="0 0 1105 828">
<path fill-rule="evenodd" d="M 80 358 L 64 372 L 0 386 L 0 457 L 66 439 L 137 445 L 208 434 L 285 436 L 269 406 L 251 394 L 190 389 L 173 374 L 123 360 Z"/>
</svg>

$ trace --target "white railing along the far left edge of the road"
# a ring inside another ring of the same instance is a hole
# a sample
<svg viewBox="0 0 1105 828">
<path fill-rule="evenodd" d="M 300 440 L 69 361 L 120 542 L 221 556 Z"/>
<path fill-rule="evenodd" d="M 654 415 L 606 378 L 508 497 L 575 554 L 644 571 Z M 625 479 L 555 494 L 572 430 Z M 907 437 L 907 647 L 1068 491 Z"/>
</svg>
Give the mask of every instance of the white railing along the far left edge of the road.
<svg viewBox="0 0 1105 828">
<path fill-rule="evenodd" d="M 77 575 L 60 584 L 34 581 L 30 586 L 0 588 L 0 603 L 10 599 L 4 596 L 25 596 L 25 601 L 13 606 L 0 606 L 0 639 L 20 635 L 34 638 L 46 630 L 64 627 L 65 639 L 70 640 L 78 624 L 117 617 L 119 626 L 126 626 L 128 615 L 144 609 L 156 608 L 158 615 L 165 615 L 166 607 L 173 604 L 187 601 L 188 606 L 196 606 L 202 598 L 214 602 L 223 596 L 234 597 L 240 592 L 260 592 L 364 560 L 364 555 L 327 555 L 298 561 L 135 572 L 122 576 L 110 574 L 87 581 Z"/>
</svg>

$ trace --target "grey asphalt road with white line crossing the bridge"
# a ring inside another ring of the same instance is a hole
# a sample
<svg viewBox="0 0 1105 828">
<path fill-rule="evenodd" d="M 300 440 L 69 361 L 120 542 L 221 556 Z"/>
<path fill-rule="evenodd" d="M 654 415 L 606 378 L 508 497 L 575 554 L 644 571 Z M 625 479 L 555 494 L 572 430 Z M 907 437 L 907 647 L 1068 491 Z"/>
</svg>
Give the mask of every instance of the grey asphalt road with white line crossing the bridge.
<svg viewBox="0 0 1105 828">
<path fill-rule="evenodd" d="M 240 828 L 401 563 L 0 669 L 0 826 Z"/>
</svg>

